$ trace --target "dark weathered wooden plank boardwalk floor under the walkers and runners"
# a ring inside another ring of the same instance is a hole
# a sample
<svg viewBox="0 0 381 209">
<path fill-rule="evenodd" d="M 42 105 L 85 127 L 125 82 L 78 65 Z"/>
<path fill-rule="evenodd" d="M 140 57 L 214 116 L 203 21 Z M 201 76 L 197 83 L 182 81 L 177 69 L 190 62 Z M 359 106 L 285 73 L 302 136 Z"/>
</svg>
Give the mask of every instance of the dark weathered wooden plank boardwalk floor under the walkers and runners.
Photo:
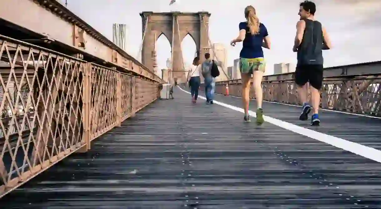
<svg viewBox="0 0 381 209">
<path fill-rule="evenodd" d="M 25 209 L 381 208 L 379 162 L 174 89 L 0 201 Z M 239 98 L 216 101 L 240 106 Z M 254 102 L 253 102 L 254 103 Z M 255 107 L 251 107 L 255 110 Z M 267 116 L 380 149 L 379 119 L 264 103 Z"/>
</svg>

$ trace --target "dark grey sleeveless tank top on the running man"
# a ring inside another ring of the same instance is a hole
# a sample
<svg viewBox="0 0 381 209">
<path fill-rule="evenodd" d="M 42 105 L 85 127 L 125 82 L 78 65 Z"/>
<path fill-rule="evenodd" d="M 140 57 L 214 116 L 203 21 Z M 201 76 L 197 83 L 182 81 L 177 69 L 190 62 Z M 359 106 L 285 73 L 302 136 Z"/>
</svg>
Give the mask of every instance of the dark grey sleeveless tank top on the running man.
<svg viewBox="0 0 381 209">
<path fill-rule="evenodd" d="M 323 30 L 319 21 L 305 19 L 302 43 L 298 47 L 298 65 L 323 65 Z"/>
</svg>

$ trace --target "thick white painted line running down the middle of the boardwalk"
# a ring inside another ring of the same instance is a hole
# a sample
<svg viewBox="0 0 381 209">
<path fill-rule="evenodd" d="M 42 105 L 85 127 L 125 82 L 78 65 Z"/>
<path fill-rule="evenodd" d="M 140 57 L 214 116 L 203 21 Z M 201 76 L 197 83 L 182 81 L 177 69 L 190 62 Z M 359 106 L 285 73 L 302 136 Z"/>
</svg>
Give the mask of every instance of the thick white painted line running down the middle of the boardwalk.
<svg viewBox="0 0 381 209">
<path fill-rule="evenodd" d="M 179 89 L 181 89 L 181 88 L 179 87 Z M 184 89 L 181 89 L 181 90 L 183 92 L 191 94 L 190 92 L 187 92 Z M 206 98 L 202 97 L 202 96 L 199 96 L 199 98 L 206 100 Z M 221 106 L 229 108 L 229 109 L 232 109 L 232 110 L 235 110 L 235 111 L 238 111 L 238 112 L 242 112 L 242 113 L 244 112 L 242 108 L 238 108 L 238 107 L 235 107 L 232 105 L 228 105 L 228 104 L 225 104 L 225 103 L 222 103 L 219 101 L 213 100 L 213 103 L 215 103 L 217 105 L 221 105 Z M 250 114 L 250 116 L 256 117 L 256 113 L 251 111 L 251 110 L 249 110 L 249 114 Z M 341 139 L 341 138 L 338 138 L 335 136 L 320 133 L 320 132 L 317 132 L 317 131 L 314 131 L 314 130 L 311 130 L 308 128 L 303 128 L 303 127 L 297 126 L 295 124 L 288 123 L 288 122 L 285 122 L 282 120 L 278 120 L 278 119 L 275 119 L 275 118 L 272 118 L 269 116 L 264 116 L 264 120 L 266 122 L 272 123 L 276 126 L 284 128 L 286 130 L 298 133 L 300 135 L 307 136 L 307 137 L 312 138 L 312 139 L 316 139 L 316 140 L 321 141 L 321 142 L 325 142 L 325 143 L 330 144 L 332 146 L 338 147 L 340 149 L 347 150 L 347 151 L 352 152 L 354 154 L 357 154 L 357 155 L 360 155 L 362 157 L 366 157 L 368 159 L 371 159 L 371 160 L 374 160 L 374 161 L 381 163 L 381 151 L 378 149 L 367 147 L 367 146 L 364 146 L 362 144 L 357 144 L 355 142 L 347 141 L 345 139 Z"/>
</svg>

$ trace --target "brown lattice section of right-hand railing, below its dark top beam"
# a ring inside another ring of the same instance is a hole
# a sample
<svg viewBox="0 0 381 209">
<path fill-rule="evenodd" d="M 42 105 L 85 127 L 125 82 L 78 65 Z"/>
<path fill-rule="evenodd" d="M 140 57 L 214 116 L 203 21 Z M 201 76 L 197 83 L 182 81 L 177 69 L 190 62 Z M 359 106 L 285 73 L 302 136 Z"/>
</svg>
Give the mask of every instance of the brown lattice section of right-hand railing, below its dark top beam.
<svg viewBox="0 0 381 209">
<path fill-rule="evenodd" d="M 241 97 L 242 81 L 233 80 L 216 84 L 216 93 Z M 293 79 L 262 82 L 263 99 L 300 105 Z M 325 78 L 321 93 L 321 108 L 347 111 L 357 114 L 381 116 L 381 74 L 359 76 L 337 76 Z M 250 89 L 250 97 L 255 92 Z"/>
</svg>

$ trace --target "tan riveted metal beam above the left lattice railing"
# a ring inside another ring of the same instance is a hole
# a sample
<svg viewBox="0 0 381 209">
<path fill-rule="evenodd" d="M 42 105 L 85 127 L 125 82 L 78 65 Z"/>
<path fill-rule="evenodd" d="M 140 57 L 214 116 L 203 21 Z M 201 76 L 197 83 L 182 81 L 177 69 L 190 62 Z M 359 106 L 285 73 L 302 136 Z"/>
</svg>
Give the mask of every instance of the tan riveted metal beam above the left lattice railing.
<svg viewBox="0 0 381 209">
<path fill-rule="evenodd" d="M 140 76 L 163 82 L 56 0 L 1 0 L 0 18 Z M 28 40 L 24 40 L 28 41 Z M 31 40 L 35 43 L 35 40 Z"/>
</svg>

